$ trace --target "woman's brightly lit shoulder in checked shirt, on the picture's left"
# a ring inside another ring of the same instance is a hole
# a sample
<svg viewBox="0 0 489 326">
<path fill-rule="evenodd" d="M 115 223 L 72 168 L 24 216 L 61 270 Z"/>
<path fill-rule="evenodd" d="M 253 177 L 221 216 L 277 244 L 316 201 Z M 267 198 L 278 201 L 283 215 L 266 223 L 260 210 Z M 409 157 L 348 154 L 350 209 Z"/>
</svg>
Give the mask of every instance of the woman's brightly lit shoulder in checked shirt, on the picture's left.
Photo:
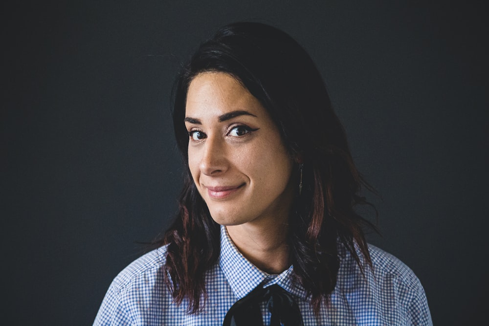
<svg viewBox="0 0 489 326">
<path fill-rule="evenodd" d="M 157 316 L 153 311 L 171 302 L 163 278 L 166 249 L 163 246 L 139 257 L 113 279 L 93 325 L 140 325 L 143 317 L 159 318 L 153 318 Z"/>
</svg>

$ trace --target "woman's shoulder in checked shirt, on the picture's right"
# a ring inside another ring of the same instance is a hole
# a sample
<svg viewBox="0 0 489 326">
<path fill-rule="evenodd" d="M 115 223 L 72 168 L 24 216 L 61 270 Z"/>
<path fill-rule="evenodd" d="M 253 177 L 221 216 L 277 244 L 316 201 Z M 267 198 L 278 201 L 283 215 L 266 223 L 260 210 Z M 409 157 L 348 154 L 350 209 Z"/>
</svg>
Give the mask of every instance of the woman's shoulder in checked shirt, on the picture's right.
<svg viewBox="0 0 489 326">
<path fill-rule="evenodd" d="M 362 274 L 352 255 L 340 252 L 338 294 L 356 307 L 358 318 L 369 311 L 387 325 L 432 325 L 422 284 L 406 264 L 369 244 L 373 268 L 364 263 Z"/>
</svg>

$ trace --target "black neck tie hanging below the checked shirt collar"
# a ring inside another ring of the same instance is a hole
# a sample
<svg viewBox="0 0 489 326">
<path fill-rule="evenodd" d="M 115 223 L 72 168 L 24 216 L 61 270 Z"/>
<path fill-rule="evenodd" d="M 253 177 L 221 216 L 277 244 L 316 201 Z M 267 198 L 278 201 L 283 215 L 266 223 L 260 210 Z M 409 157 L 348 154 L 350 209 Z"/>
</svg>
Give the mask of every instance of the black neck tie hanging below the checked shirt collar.
<svg viewBox="0 0 489 326">
<path fill-rule="evenodd" d="M 263 325 L 260 302 L 267 303 L 271 312 L 270 326 L 304 326 L 299 306 L 289 292 L 277 284 L 263 288 L 258 286 L 238 300 L 224 317 L 222 326 Z"/>
</svg>

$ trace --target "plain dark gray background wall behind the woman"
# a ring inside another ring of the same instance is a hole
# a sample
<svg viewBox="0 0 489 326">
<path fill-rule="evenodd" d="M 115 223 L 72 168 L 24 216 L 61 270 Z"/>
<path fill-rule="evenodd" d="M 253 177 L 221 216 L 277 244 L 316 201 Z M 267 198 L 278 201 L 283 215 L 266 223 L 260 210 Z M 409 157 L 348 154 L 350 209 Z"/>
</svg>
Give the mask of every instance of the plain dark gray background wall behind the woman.
<svg viewBox="0 0 489 326">
<path fill-rule="evenodd" d="M 481 1 L 482 3 L 482 1 Z M 4 5 L 5 6 L 5 5 Z M 434 1 L 18 2 L 2 13 L 2 324 L 90 325 L 169 225 L 170 91 L 222 24 L 287 31 L 325 77 L 382 195 L 370 241 L 421 279 L 435 325 L 487 310 L 487 11 Z"/>
</svg>

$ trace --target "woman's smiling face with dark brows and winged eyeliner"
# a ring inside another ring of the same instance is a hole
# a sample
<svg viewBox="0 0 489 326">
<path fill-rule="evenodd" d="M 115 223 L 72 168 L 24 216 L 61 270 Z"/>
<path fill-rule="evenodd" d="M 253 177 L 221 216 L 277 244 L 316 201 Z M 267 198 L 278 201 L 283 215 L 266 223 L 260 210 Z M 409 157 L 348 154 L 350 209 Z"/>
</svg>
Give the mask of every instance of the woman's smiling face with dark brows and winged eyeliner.
<svg viewBox="0 0 489 326">
<path fill-rule="evenodd" d="M 266 109 L 236 79 L 197 75 L 187 93 L 185 126 L 190 172 L 217 223 L 288 218 L 293 160 Z"/>
</svg>

